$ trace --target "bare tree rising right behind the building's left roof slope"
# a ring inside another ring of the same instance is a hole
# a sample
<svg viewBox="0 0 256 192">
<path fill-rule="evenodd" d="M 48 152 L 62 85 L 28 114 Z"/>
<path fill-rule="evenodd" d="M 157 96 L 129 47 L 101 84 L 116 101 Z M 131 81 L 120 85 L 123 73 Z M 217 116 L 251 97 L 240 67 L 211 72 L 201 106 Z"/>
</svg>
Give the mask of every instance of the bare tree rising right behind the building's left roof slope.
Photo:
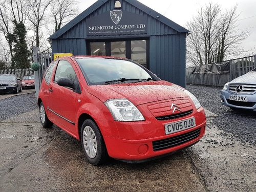
<svg viewBox="0 0 256 192">
<path fill-rule="evenodd" d="M 76 5 L 78 5 L 77 1 L 52 1 L 51 14 L 54 18 L 55 32 L 78 14 L 78 8 L 75 7 Z"/>
</svg>

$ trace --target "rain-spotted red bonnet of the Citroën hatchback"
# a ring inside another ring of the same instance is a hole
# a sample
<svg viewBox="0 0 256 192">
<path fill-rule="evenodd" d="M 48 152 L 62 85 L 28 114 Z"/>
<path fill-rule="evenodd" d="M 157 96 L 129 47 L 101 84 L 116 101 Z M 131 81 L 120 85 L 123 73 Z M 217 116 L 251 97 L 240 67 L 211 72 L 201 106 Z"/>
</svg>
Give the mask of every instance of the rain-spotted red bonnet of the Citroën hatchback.
<svg viewBox="0 0 256 192">
<path fill-rule="evenodd" d="M 126 98 L 135 105 L 140 105 L 165 99 L 187 97 L 182 90 L 184 88 L 176 84 L 161 80 L 90 86 L 88 91 L 102 102 L 109 99 Z"/>
</svg>

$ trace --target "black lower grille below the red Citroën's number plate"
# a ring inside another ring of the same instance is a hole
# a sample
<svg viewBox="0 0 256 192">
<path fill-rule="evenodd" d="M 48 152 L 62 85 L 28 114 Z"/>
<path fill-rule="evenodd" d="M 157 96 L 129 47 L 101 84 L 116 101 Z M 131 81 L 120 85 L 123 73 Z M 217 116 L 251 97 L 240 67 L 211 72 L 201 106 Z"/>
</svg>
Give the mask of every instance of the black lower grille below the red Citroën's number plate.
<svg viewBox="0 0 256 192">
<path fill-rule="evenodd" d="M 178 146 L 181 145 L 183 143 L 186 143 L 188 141 L 191 141 L 197 137 L 199 137 L 200 135 L 200 129 L 182 134 L 182 135 L 178 135 L 175 137 L 170 137 L 167 139 L 162 139 L 162 140 L 158 140 L 158 141 L 153 141 L 153 151 L 160 151 L 160 150 L 165 150 L 166 148 L 171 148 L 174 146 Z"/>
</svg>

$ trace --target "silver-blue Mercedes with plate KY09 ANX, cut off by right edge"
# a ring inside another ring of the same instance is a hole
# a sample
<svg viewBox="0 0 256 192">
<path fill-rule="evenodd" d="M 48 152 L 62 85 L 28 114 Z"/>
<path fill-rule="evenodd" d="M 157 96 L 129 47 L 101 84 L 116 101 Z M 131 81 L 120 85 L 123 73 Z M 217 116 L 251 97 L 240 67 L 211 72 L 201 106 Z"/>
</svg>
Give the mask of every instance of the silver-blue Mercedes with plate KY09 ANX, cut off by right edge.
<svg viewBox="0 0 256 192">
<path fill-rule="evenodd" d="M 232 110 L 256 111 L 256 68 L 227 82 L 221 91 L 221 103 Z"/>
</svg>

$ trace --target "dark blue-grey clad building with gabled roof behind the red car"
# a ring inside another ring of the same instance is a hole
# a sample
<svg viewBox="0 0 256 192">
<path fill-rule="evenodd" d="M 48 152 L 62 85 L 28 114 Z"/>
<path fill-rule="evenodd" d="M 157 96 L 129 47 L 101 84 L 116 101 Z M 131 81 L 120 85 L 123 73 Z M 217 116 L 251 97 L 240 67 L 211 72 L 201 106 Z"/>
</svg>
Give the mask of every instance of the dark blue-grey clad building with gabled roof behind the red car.
<svg viewBox="0 0 256 192">
<path fill-rule="evenodd" d="M 49 39 L 53 53 L 130 58 L 185 88 L 188 32 L 136 0 L 99 0 Z"/>
</svg>

